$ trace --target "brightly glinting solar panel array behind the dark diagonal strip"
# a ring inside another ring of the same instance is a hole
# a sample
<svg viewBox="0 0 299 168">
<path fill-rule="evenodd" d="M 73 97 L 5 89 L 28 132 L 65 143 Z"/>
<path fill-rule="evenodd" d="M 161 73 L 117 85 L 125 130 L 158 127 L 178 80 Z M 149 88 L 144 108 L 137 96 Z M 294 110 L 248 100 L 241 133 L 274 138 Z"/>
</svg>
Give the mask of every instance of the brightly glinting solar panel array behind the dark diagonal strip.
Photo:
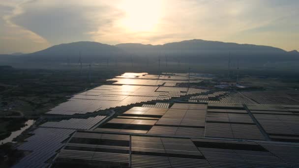
<svg viewBox="0 0 299 168">
<path fill-rule="evenodd" d="M 73 115 L 96 112 L 153 100 L 169 100 L 189 94 L 206 92 L 187 87 L 157 87 L 142 85 L 102 85 L 74 95 L 67 102 L 51 109 L 48 114 Z"/>
</svg>

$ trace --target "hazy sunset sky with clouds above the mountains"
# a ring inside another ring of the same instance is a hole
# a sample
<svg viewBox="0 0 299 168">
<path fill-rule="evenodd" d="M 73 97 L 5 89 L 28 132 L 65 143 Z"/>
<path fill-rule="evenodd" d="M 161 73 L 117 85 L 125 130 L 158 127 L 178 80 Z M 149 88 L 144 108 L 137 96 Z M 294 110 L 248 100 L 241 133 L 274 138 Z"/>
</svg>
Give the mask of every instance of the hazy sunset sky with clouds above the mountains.
<svg viewBox="0 0 299 168">
<path fill-rule="evenodd" d="M 0 54 L 188 39 L 299 50 L 299 0 L 0 0 Z"/>
</svg>

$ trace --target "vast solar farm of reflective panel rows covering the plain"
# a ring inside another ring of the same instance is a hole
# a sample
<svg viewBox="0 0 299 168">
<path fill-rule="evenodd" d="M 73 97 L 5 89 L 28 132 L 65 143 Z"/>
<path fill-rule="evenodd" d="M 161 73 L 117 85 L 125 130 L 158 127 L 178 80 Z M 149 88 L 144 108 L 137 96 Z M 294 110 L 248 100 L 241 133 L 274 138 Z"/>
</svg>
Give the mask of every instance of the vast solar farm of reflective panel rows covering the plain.
<svg viewBox="0 0 299 168">
<path fill-rule="evenodd" d="M 299 92 L 125 73 L 47 112 L 14 168 L 298 168 Z M 181 86 L 183 84 L 184 86 Z"/>
</svg>

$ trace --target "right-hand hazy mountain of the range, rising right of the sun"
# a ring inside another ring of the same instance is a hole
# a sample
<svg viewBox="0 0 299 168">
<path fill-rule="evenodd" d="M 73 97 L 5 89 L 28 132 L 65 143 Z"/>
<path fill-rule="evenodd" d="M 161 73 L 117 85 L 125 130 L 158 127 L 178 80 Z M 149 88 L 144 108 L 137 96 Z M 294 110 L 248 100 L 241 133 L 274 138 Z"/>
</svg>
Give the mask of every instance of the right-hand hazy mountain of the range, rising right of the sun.
<svg viewBox="0 0 299 168">
<path fill-rule="evenodd" d="M 261 45 L 226 43 L 200 39 L 167 43 L 164 45 L 143 45 L 136 43 L 118 44 L 125 52 L 134 55 L 173 57 L 174 60 L 189 62 L 227 61 L 228 56 L 246 62 L 275 62 L 299 60 L 299 53 Z"/>
</svg>

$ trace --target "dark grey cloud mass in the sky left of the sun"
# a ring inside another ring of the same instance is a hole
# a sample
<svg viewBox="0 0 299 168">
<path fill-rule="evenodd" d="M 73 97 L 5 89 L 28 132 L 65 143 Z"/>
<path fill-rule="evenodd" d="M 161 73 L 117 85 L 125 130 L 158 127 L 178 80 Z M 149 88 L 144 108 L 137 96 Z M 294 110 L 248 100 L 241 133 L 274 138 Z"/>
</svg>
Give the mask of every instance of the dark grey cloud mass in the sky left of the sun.
<svg viewBox="0 0 299 168">
<path fill-rule="evenodd" d="M 87 5 L 76 1 L 36 0 L 22 5 L 24 12 L 12 22 L 39 34 L 51 44 L 90 40 L 86 32 L 109 24 L 113 8 L 105 4 Z"/>
</svg>

